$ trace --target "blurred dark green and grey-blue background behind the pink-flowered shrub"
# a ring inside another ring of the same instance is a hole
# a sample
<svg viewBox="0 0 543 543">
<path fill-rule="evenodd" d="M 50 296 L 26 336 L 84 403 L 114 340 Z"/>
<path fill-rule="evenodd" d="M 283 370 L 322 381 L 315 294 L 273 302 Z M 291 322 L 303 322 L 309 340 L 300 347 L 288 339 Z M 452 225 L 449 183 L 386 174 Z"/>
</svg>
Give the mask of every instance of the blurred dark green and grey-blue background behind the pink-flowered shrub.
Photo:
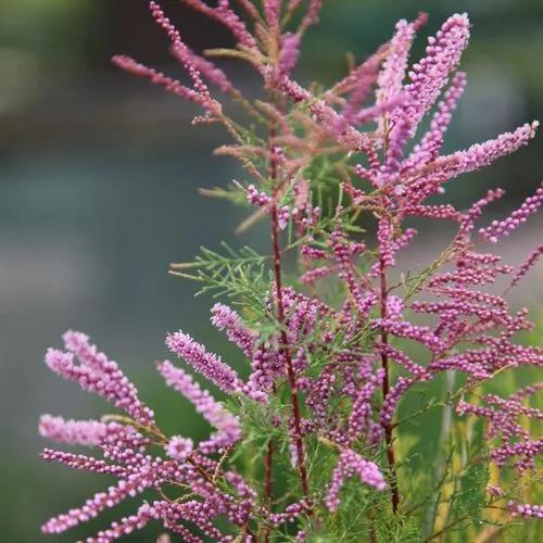
<svg viewBox="0 0 543 543">
<path fill-rule="evenodd" d="M 198 437 L 205 428 L 155 375 L 167 330 L 184 328 L 228 356 L 210 328 L 210 300 L 167 275 L 169 262 L 189 261 L 199 245 L 220 240 L 266 250 L 255 229 L 236 239 L 238 210 L 198 194 L 237 175 L 228 160 L 210 157 L 223 134 L 190 126 L 194 111 L 176 97 L 110 65 L 125 52 L 142 62 L 179 67 L 143 0 L 0 0 L 0 539 L 37 542 L 40 523 L 103 487 L 99 476 L 47 466 L 36 424 L 42 412 L 88 418 L 104 404 L 49 374 L 48 345 L 68 327 L 91 334 L 122 363 L 167 429 Z M 185 10 L 163 5 L 195 49 L 229 41 L 223 29 Z M 325 83 L 386 40 L 401 17 L 430 13 L 433 31 L 454 11 L 469 11 L 472 42 L 465 53 L 468 89 L 447 139 L 467 147 L 496 132 L 543 121 L 543 2 L 541 0 L 329 0 L 310 33 L 296 73 Z M 416 52 L 420 52 L 420 39 Z M 227 66 L 238 84 L 251 74 Z M 451 186 L 469 202 L 488 187 L 507 189 L 505 213 L 543 176 L 543 137 L 484 173 Z M 542 238 L 536 219 L 505 247 L 523 257 Z M 428 251 L 439 232 L 426 232 Z M 422 257 L 417 255 L 415 258 Z M 543 272 L 515 303 L 538 313 Z M 121 514 L 115 512 L 115 516 Z M 74 541 L 104 525 L 54 541 Z M 154 541 L 157 529 L 131 541 Z"/>
</svg>

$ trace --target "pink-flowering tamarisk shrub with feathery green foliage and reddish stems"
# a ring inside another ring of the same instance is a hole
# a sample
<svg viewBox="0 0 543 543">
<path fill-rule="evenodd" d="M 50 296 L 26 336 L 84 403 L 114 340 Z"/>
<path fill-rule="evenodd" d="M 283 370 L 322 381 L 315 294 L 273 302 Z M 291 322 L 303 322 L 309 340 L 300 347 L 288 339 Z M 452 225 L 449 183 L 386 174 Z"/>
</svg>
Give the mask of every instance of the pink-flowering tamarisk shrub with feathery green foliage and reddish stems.
<svg viewBox="0 0 543 543">
<path fill-rule="evenodd" d="M 214 428 L 195 443 L 165 435 L 117 364 L 84 333 L 66 332 L 47 365 L 123 414 L 45 415 L 43 437 L 96 446 L 102 457 L 50 449 L 42 456 L 117 482 L 51 518 L 43 532 L 63 532 L 136 495 L 142 505 L 132 515 L 87 541 L 113 541 L 153 520 L 187 542 L 453 541 L 541 518 L 530 501 L 543 449 L 534 435 L 541 383 L 505 397 L 488 387 L 543 364 L 541 348 L 515 342 L 531 325 L 506 300 L 543 245 L 518 267 L 492 252 L 539 210 L 543 187 L 490 225 L 482 212 L 502 190 L 468 210 L 444 200 L 449 182 L 528 143 L 538 123 L 441 152 L 466 86 L 457 66 L 467 15 L 446 20 L 411 66 L 427 16 L 400 21 L 387 43 L 326 89 L 292 76 L 321 0 L 185 3 L 228 28 L 236 46 L 197 54 L 150 2 L 188 83 L 129 56 L 113 62 L 198 104 L 194 124 L 226 128 L 232 142 L 216 152 L 238 160 L 247 179 L 205 192 L 252 207 L 240 231 L 269 225 L 270 255 L 225 247 L 172 268 L 229 300 L 213 306 L 212 323 L 240 349 L 244 367 L 238 374 L 182 331 L 167 336 L 175 363 L 159 363 L 159 372 Z M 261 99 L 244 98 L 214 56 L 248 62 L 262 76 Z M 399 254 L 417 237 L 414 218 L 447 222 L 455 233 L 427 265 L 400 269 Z M 187 365 L 218 390 L 202 389 Z M 422 403 L 399 414 L 414 396 Z M 417 464 L 405 440 L 431 409 L 449 422 L 435 457 Z"/>
</svg>

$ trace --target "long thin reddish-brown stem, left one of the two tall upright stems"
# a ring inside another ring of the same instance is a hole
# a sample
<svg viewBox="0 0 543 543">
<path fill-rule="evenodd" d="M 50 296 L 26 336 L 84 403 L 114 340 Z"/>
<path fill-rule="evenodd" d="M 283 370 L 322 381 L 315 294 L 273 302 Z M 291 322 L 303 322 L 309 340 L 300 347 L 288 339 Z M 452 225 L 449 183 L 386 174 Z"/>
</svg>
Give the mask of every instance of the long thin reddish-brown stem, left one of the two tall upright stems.
<svg viewBox="0 0 543 543">
<path fill-rule="evenodd" d="M 307 481 L 307 469 L 305 467 L 304 444 L 302 438 L 302 424 L 300 414 L 300 400 L 298 397 L 298 386 L 294 369 L 292 367 L 292 357 L 289 350 L 287 332 L 285 330 L 285 307 L 282 301 L 282 282 L 281 282 L 281 251 L 279 249 L 279 218 L 277 214 L 277 202 L 273 201 L 272 209 L 272 244 L 274 251 L 274 275 L 277 296 L 277 320 L 281 328 L 279 332 L 280 352 L 285 358 L 287 366 L 287 376 L 290 384 L 290 400 L 292 403 L 292 417 L 294 419 L 293 440 L 296 447 L 298 469 L 302 481 L 302 491 L 305 497 L 310 496 L 310 484 Z"/>
</svg>

